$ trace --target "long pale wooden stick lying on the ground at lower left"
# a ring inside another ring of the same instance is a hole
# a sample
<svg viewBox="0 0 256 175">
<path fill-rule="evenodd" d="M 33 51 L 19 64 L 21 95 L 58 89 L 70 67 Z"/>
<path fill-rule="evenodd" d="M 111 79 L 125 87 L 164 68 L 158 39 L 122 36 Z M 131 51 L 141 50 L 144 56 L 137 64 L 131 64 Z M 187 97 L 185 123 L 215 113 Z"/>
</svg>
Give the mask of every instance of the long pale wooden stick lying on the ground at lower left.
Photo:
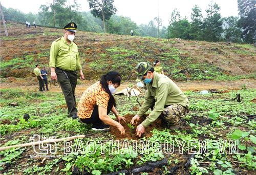
<svg viewBox="0 0 256 175">
<path fill-rule="evenodd" d="M 23 143 L 23 144 L 18 144 L 18 145 L 11 145 L 11 146 L 4 146 L 0 147 L 0 151 L 10 149 L 10 148 L 22 148 L 22 147 L 27 147 L 27 146 L 32 146 L 32 145 L 39 145 L 43 143 L 49 143 L 49 142 L 61 142 L 65 140 L 74 140 L 78 138 L 84 138 L 85 135 L 79 135 L 79 136 L 72 136 L 72 137 L 66 137 L 66 138 L 61 138 L 61 139 L 47 139 L 47 140 L 41 140 L 37 142 L 30 142 L 30 143 Z"/>
</svg>

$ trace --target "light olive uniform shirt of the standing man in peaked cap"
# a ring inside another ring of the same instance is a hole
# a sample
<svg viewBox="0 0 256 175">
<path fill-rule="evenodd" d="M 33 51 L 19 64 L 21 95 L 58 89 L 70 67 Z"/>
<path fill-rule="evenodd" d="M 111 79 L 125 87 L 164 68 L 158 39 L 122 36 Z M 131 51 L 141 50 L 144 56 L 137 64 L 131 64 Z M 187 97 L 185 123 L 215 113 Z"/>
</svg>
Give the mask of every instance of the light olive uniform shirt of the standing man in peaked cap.
<svg viewBox="0 0 256 175">
<path fill-rule="evenodd" d="M 49 66 L 66 71 L 81 70 L 81 61 L 76 44 L 71 41 L 69 45 L 64 36 L 53 41 Z"/>
</svg>

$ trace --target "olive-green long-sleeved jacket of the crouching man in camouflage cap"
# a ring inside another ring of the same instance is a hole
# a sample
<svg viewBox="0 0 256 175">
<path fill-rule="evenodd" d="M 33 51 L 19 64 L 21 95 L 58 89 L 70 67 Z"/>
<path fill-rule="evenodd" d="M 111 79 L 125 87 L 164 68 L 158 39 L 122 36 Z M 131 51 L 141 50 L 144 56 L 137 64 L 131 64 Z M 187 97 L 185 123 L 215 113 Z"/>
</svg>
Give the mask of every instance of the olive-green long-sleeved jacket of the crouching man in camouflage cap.
<svg viewBox="0 0 256 175">
<path fill-rule="evenodd" d="M 137 115 L 142 117 L 154 104 L 154 101 L 155 106 L 150 115 L 142 122 L 144 127 L 154 122 L 163 112 L 165 106 L 180 104 L 189 107 L 187 97 L 171 79 L 163 74 L 154 71 L 153 83 L 147 84 L 146 88 L 145 100 Z"/>
</svg>

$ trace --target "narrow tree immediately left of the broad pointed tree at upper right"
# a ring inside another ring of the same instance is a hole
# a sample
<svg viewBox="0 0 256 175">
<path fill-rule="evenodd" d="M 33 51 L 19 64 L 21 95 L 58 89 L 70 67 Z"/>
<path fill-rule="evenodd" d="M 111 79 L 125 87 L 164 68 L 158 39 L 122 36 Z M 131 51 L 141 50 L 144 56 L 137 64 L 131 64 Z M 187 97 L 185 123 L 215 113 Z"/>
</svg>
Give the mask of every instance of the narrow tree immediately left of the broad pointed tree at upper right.
<svg viewBox="0 0 256 175">
<path fill-rule="evenodd" d="M 191 13 L 191 26 L 190 26 L 191 39 L 195 39 L 195 40 L 202 39 L 202 36 L 201 36 L 202 24 L 203 24 L 202 10 L 200 7 L 195 5 Z"/>
</svg>

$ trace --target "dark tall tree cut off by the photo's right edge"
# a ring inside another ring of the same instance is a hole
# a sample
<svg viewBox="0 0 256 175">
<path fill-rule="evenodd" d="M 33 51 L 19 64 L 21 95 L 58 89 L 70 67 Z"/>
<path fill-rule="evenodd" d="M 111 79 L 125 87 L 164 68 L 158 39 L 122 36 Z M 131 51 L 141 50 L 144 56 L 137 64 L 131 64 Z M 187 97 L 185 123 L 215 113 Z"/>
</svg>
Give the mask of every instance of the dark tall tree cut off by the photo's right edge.
<svg viewBox="0 0 256 175">
<path fill-rule="evenodd" d="M 239 26 L 243 28 L 243 39 L 249 43 L 256 43 L 256 1 L 238 0 L 238 10 Z"/>
</svg>

